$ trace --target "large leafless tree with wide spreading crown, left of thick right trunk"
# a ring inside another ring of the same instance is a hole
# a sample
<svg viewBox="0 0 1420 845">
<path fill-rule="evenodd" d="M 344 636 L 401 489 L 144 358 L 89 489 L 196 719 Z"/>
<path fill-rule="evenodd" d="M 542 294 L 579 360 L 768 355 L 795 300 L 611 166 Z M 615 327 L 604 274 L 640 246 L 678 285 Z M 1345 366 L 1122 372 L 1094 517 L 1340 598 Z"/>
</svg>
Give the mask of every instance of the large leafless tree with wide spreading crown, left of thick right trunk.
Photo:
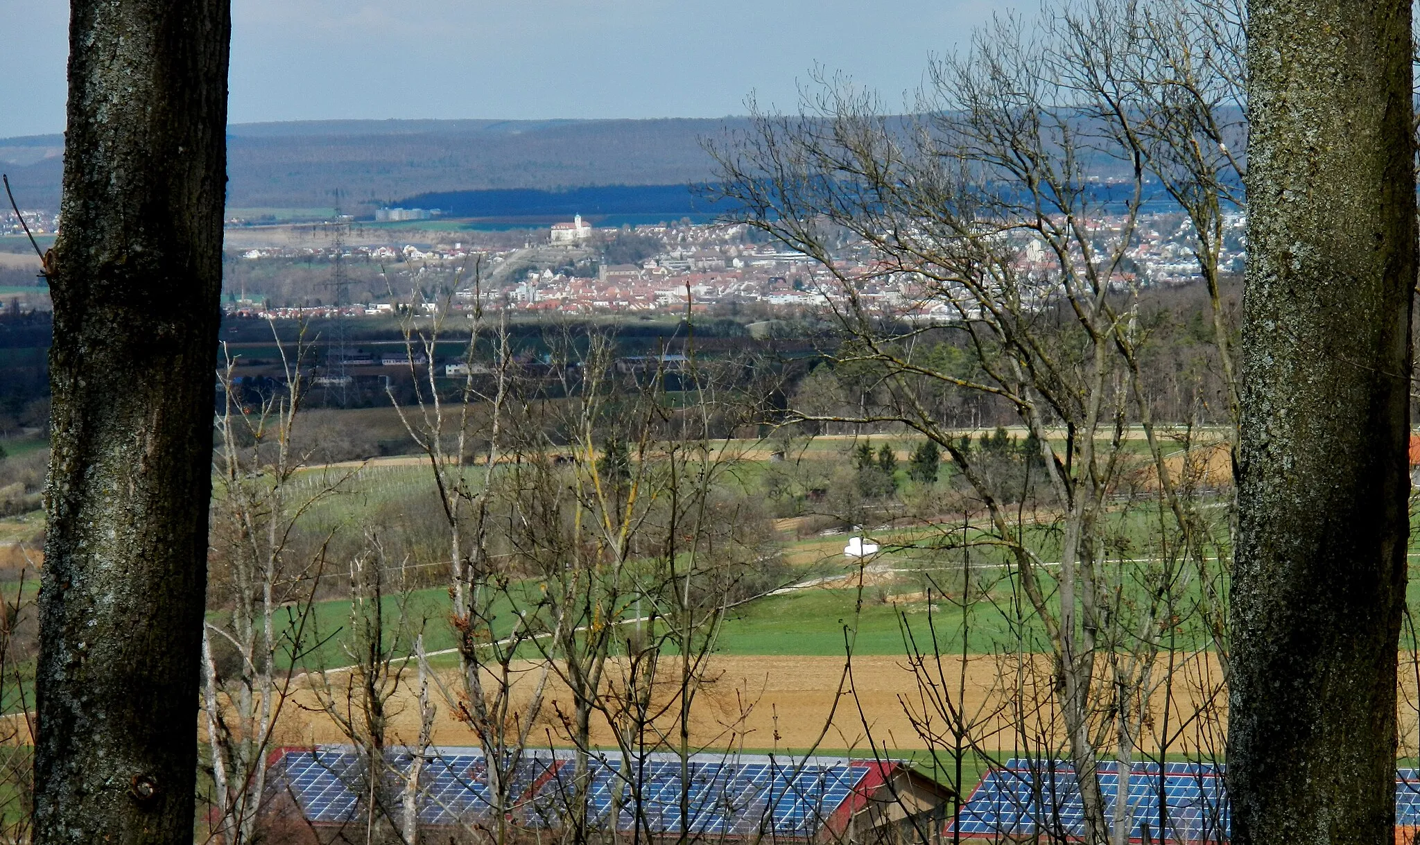
<svg viewBox="0 0 1420 845">
<path fill-rule="evenodd" d="M 1102 36 L 1110 14 L 1105 4 L 1048 7 L 1030 31 L 995 21 L 968 51 L 933 65 L 912 108 L 920 118 L 888 116 L 846 80 L 821 77 L 802 116 L 761 114 L 750 135 L 714 149 L 741 220 L 831 274 L 822 293 L 846 338 L 839 359 L 873 378 L 856 413 L 799 416 L 906 426 L 937 442 L 1010 551 L 1022 601 L 1047 633 L 1048 689 L 1082 775 L 1091 842 L 1119 835 L 1096 763 L 1102 747 L 1126 761 L 1139 734 L 1163 646 L 1157 599 L 1177 595 L 1184 565 L 1208 574 L 1217 548 L 1179 489 L 1145 383 L 1145 280 L 1130 253 L 1157 162 L 1149 143 L 1167 138 L 1146 141 L 1135 128 L 1145 105 L 1130 64 L 1142 55 L 1139 33 Z M 842 231 L 872 250 L 878 270 L 836 261 Z M 885 290 L 900 304 L 883 304 Z M 971 366 L 943 368 L 951 349 Z M 1058 537 L 1049 551 L 1011 518 L 1012 493 L 936 412 L 957 391 L 1010 408 L 1039 449 Z M 1147 446 L 1142 466 L 1129 446 L 1136 436 Z M 1115 500 L 1140 471 L 1156 483 L 1149 496 L 1162 527 L 1184 537 L 1181 555 L 1149 567 L 1112 554 Z M 1045 567 L 1056 562 L 1055 572 Z M 1157 599 L 1120 604 L 1135 579 Z M 1095 733 L 1102 713 L 1115 726 L 1108 738 Z M 1122 775 L 1120 794 L 1127 788 Z"/>
</svg>

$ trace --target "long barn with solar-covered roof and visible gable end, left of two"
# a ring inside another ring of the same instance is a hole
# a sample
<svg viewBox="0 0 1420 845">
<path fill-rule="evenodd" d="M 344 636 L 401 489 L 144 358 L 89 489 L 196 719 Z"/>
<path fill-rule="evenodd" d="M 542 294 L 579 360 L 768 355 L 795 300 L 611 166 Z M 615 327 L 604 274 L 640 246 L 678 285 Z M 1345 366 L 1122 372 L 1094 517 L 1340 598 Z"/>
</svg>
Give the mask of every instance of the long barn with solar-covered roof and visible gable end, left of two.
<svg viewBox="0 0 1420 845">
<path fill-rule="evenodd" d="M 389 756 L 382 794 L 403 805 L 412 758 Z M 588 761 L 586 805 L 599 829 L 639 832 L 653 839 L 738 842 L 922 842 L 937 841 L 950 790 L 900 761 L 841 757 L 694 754 L 686 767 L 674 754 Z M 285 748 L 273 757 L 273 812 L 295 815 L 315 831 L 358 825 L 366 770 L 348 746 Z M 508 774 L 507 817 L 525 831 L 564 827 L 571 818 L 575 760 L 569 751 L 524 753 Z M 493 792 L 477 748 L 430 748 L 419 778 L 416 807 L 425 828 L 487 829 Z M 682 814 L 682 794 L 687 812 Z M 396 809 L 398 812 L 398 809 Z"/>
</svg>

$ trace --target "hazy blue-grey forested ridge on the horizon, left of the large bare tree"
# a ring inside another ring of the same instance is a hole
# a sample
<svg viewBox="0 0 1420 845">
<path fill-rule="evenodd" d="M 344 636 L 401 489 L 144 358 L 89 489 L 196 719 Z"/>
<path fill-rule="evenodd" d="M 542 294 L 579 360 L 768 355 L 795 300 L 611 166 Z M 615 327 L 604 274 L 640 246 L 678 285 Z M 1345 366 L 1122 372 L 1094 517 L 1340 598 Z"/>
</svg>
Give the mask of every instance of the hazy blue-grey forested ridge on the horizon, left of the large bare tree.
<svg viewBox="0 0 1420 845">
<path fill-rule="evenodd" d="M 423 193 L 684 185 L 711 176 L 701 138 L 743 118 L 659 121 L 304 121 L 229 128 L 227 205 L 361 213 Z M 0 139 L 27 207 L 58 207 L 62 138 Z"/>
</svg>

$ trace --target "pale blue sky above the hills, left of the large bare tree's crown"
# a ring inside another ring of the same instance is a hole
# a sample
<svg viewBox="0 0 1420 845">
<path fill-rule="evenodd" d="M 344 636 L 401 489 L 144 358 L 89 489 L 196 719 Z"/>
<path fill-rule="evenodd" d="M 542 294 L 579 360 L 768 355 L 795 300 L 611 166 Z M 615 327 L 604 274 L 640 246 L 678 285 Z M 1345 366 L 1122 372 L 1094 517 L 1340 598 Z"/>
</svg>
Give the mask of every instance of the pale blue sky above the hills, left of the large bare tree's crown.
<svg viewBox="0 0 1420 845">
<path fill-rule="evenodd" d="M 980 0 L 233 0 L 231 122 L 721 116 L 815 62 L 892 102 Z M 68 3 L 0 0 L 0 138 L 64 128 Z"/>
</svg>

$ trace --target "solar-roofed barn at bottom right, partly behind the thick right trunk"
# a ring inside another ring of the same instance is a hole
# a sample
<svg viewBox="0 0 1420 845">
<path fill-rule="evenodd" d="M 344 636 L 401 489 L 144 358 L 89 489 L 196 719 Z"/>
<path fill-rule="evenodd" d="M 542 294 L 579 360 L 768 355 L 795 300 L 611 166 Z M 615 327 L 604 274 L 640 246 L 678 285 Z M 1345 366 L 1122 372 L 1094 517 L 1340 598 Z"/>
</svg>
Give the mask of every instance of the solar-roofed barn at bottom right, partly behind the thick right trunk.
<svg viewBox="0 0 1420 845">
<path fill-rule="evenodd" d="M 1227 842 L 1231 827 L 1224 771 L 1225 765 L 1213 763 L 1166 763 L 1163 771 L 1154 763 L 1135 764 L 1129 777 L 1129 841 Z M 1118 764 L 1099 764 L 1099 785 L 1105 818 L 1113 818 Z M 1417 770 L 1396 773 L 1396 825 L 1397 842 L 1414 839 L 1420 825 Z M 960 818 L 947 821 L 949 836 L 954 829 L 963 839 L 1082 839 L 1085 812 L 1075 767 L 1064 760 L 1022 758 L 988 770 L 961 807 Z"/>
</svg>

